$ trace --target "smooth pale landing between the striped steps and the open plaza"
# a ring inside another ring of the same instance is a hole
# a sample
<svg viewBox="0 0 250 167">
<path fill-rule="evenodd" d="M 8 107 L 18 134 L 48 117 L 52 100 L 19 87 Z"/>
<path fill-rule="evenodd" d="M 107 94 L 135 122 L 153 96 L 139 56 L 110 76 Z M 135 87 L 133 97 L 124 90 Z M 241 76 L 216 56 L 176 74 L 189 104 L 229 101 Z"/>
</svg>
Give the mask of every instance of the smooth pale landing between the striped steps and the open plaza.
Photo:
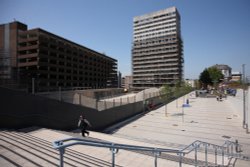
<svg viewBox="0 0 250 167">
<path fill-rule="evenodd" d="M 50 141 L 51 143 L 55 140 L 70 138 L 72 135 L 66 135 L 60 132 L 55 132 L 49 129 L 41 129 L 39 131 L 35 131 L 31 133 L 32 136 L 42 138 L 46 141 Z M 80 133 L 76 134 L 81 138 Z M 73 135 L 75 137 L 75 135 Z M 133 144 L 133 145 L 141 145 L 141 146 L 149 146 L 148 144 L 137 142 L 137 141 L 130 141 L 128 139 L 122 139 L 119 137 L 113 137 L 111 135 L 98 133 L 98 132 L 90 132 L 90 137 L 95 139 L 101 139 L 104 141 L 119 143 L 119 144 Z M 153 146 L 153 144 L 151 144 Z M 106 161 L 110 164 L 112 161 L 111 152 L 108 148 L 98 148 L 98 147 L 90 147 L 90 146 L 73 146 L 71 149 L 84 153 L 88 156 L 91 156 L 94 159 L 101 159 Z M 178 162 L 169 161 L 166 159 L 158 159 L 159 164 L 168 164 L 170 166 L 179 166 Z M 154 165 L 154 157 L 148 156 L 145 154 L 140 154 L 133 151 L 126 151 L 120 150 L 116 154 L 116 164 L 120 166 L 140 166 L 143 164 L 144 166 L 153 166 Z M 160 165 L 159 165 L 160 166 Z M 163 165 L 165 166 L 165 165 Z M 191 165 L 183 164 L 184 167 L 188 167 Z"/>
</svg>

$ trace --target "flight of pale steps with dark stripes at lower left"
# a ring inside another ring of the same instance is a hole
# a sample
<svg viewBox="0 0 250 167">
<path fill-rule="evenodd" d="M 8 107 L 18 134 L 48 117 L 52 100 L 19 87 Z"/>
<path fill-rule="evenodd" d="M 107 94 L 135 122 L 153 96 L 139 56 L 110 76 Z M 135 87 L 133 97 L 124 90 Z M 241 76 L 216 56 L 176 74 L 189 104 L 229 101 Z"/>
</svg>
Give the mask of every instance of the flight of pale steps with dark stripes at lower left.
<svg viewBox="0 0 250 167">
<path fill-rule="evenodd" d="M 39 130 L 38 130 L 39 131 Z M 48 131 L 47 135 L 68 137 Z M 2 130 L 0 132 L 0 166 L 58 166 L 59 152 L 52 148 L 52 142 L 37 137 L 38 133 Z M 43 134 L 41 134 L 43 135 Z M 75 149 L 67 149 L 65 166 L 111 166 L 110 162 Z"/>
</svg>

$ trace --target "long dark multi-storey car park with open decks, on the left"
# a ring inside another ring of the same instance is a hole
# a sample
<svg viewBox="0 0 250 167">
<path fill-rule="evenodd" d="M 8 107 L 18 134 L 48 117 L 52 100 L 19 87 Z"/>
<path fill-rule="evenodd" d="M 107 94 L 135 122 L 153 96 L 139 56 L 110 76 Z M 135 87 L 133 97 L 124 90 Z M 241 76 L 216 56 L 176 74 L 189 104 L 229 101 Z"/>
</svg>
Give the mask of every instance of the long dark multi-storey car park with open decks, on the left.
<svg viewBox="0 0 250 167">
<path fill-rule="evenodd" d="M 6 30 L 13 24 L 16 29 Z M 40 28 L 27 30 L 27 26 L 19 22 L 0 26 L 3 30 L 1 49 L 8 53 L 1 58 L 15 60 L 11 70 L 19 82 L 30 83 L 34 78 L 35 87 L 40 90 L 117 87 L 117 60 Z M 6 40 L 4 36 L 12 31 L 17 37 Z M 13 44 L 15 50 L 11 49 Z M 13 78 L 12 73 L 9 78 Z"/>
</svg>

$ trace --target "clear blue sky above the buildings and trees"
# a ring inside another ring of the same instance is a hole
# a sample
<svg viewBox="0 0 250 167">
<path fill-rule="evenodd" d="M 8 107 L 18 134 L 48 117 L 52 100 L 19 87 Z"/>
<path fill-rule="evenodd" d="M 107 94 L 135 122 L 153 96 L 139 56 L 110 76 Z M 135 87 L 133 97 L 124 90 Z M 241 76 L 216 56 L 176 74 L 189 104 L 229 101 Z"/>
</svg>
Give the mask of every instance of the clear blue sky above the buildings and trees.
<svg viewBox="0 0 250 167">
<path fill-rule="evenodd" d="M 250 76 L 250 0 L 0 0 L 0 24 L 14 19 L 118 60 L 131 74 L 133 17 L 176 6 L 185 78 L 214 64 Z"/>
</svg>

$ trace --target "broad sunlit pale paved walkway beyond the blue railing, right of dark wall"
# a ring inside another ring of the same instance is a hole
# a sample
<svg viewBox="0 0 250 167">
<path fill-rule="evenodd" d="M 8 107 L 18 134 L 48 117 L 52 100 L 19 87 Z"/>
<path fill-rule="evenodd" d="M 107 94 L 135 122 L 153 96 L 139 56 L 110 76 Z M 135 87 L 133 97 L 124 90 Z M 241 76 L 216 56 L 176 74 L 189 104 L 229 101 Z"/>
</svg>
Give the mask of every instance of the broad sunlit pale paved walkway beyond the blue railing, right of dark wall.
<svg viewBox="0 0 250 167">
<path fill-rule="evenodd" d="M 187 98 L 190 106 L 182 107 Z M 184 148 L 195 140 L 217 145 L 226 140 L 238 140 L 243 145 L 244 154 L 250 156 L 250 134 L 242 128 L 242 118 L 227 99 L 217 101 L 215 98 L 183 96 L 123 127 L 116 127 L 110 133 L 168 148 Z M 250 166 L 250 162 L 245 166 Z"/>
</svg>

